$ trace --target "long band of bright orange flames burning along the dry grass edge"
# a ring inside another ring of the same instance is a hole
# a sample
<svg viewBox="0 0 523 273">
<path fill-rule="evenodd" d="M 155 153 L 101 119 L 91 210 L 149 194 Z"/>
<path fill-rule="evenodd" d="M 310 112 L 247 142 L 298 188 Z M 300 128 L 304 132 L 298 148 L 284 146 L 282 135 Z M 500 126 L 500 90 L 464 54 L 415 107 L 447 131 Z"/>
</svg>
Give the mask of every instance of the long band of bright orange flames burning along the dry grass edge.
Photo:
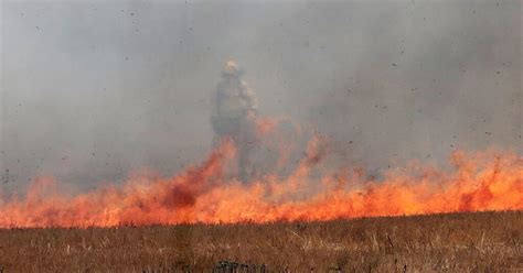
<svg viewBox="0 0 523 273">
<path fill-rule="evenodd" d="M 268 121 L 260 124 L 273 128 Z M 62 194 L 52 177 L 40 177 L 23 198 L 0 199 L 0 228 L 262 223 L 523 209 L 523 157 L 513 152 L 457 151 L 451 170 L 410 164 L 375 181 L 350 167 L 318 176 L 327 153 L 323 143 L 313 138 L 290 175 L 269 174 L 249 184 L 224 175 L 236 153 L 232 141 L 173 177 L 136 175 L 121 187 L 76 196 Z"/>
</svg>

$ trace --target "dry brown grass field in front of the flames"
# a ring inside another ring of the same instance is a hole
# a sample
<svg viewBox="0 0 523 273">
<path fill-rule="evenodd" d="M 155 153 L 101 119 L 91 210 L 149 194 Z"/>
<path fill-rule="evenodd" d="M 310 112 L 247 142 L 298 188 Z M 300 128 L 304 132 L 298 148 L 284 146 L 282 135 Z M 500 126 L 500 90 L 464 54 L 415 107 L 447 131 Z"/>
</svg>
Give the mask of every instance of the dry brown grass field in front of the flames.
<svg viewBox="0 0 523 273">
<path fill-rule="evenodd" d="M 3 272 L 523 272 L 523 211 L 0 230 Z"/>
</svg>

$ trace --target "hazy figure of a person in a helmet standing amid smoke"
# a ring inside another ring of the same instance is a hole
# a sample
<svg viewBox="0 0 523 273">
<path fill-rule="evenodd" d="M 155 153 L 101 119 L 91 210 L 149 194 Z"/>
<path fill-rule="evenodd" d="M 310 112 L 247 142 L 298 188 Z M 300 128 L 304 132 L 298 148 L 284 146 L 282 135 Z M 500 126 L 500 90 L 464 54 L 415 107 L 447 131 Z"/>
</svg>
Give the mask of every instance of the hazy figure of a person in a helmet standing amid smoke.
<svg viewBox="0 0 523 273">
<path fill-rule="evenodd" d="M 253 174 L 252 152 L 256 142 L 257 106 L 254 92 L 242 80 L 241 70 L 234 61 L 228 61 L 222 70 L 214 98 L 215 109 L 211 123 L 214 142 L 230 139 L 238 150 L 238 178 L 248 181 Z"/>
</svg>

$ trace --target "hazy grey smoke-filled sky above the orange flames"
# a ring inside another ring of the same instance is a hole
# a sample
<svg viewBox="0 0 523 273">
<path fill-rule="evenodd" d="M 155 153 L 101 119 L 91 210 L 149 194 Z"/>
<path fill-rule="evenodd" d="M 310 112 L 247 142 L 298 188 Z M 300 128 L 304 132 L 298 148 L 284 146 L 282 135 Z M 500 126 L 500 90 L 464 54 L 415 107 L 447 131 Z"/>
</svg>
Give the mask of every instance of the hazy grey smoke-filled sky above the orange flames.
<svg viewBox="0 0 523 273">
<path fill-rule="evenodd" d="M 3 192 L 200 162 L 230 59 L 343 164 L 523 153 L 517 0 L 0 2 Z"/>
</svg>

